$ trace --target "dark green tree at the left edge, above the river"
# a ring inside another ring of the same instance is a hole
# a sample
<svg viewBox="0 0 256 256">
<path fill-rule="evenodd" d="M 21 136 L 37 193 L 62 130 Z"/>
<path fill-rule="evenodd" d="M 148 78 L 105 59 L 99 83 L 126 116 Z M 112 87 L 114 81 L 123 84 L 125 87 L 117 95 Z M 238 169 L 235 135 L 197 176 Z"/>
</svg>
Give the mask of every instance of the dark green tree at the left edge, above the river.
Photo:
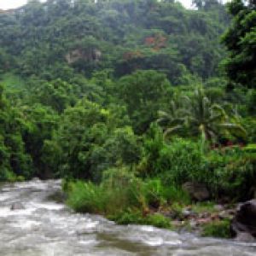
<svg viewBox="0 0 256 256">
<path fill-rule="evenodd" d="M 0 180 L 32 176 L 32 159 L 26 153 L 22 132 L 26 123 L 18 108 L 9 106 L 0 85 Z"/>
</svg>

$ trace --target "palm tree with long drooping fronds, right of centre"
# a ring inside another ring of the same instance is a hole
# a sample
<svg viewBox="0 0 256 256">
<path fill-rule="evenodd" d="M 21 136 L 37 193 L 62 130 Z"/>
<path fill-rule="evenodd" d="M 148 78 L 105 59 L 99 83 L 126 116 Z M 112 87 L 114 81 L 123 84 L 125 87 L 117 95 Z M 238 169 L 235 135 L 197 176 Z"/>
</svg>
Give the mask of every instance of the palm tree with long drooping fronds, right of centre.
<svg viewBox="0 0 256 256">
<path fill-rule="evenodd" d="M 224 108 L 210 102 L 202 87 L 196 88 L 192 96 L 183 97 L 182 108 L 174 108 L 177 105 L 173 105 L 173 102 L 171 105 L 173 107 L 170 113 L 160 112 L 160 123 L 169 120 L 165 134 L 186 126 L 189 128 L 189 133 L 201 136 L 202 144 L 206 141 L 215 142 L 222 132 L 246 136 L 246 131 L 241 125 L 230 122 Z"/>
</svg>

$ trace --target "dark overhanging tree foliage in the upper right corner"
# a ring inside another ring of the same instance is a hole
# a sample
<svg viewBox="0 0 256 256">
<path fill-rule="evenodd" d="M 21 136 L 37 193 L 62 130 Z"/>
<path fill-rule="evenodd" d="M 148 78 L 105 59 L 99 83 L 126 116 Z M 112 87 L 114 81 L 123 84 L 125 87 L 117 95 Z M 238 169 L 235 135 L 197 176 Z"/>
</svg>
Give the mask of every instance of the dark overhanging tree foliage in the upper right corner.
<svg viewBox="0 0 256 256">
<path fill-rule="evenodd" d="M 233 0 L 228 3 L 233 16 L 223 42 L 229 50 L 224 66 L 232 83 L 255 88 L 256 84 L 256 3 Z"/>
</svg>

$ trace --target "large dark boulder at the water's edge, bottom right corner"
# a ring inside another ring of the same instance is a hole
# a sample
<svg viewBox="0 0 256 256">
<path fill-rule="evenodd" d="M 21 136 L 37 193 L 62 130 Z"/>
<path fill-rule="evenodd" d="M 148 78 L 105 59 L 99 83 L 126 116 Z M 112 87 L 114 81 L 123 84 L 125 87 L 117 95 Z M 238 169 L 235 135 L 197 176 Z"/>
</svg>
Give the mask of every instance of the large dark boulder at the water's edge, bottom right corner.
<svg viewBox="0 0 256 256">
<path fill-rule="evenodd" d="M 239 239 L 245 233 L 256 238 L 256 199 L 242 203 L 231 223 L 231 232 Z M 243 234 L 241 234 L 243 233 Z M 251 238 L 249 239 L 251 241 Z"/>
</svg>

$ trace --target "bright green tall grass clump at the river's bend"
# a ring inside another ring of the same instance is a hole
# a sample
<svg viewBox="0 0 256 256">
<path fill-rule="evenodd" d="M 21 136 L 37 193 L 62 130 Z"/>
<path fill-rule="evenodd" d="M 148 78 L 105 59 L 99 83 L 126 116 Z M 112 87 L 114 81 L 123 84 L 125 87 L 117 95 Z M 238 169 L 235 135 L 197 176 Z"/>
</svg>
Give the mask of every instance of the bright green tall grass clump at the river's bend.
<svg viewBox="0 0 256 256">
<path fill-rule="evenodd" d="M 102 183 L 63 183 L 67 205 L 76 212 L 98 213 L 118 224 L 148 224 L 171 228 L 170 219 L 158 210 L 166 207 L 176 189 L 158 179 L 143 181 L 125 168 L 104 172 Z"/>
</svg>

